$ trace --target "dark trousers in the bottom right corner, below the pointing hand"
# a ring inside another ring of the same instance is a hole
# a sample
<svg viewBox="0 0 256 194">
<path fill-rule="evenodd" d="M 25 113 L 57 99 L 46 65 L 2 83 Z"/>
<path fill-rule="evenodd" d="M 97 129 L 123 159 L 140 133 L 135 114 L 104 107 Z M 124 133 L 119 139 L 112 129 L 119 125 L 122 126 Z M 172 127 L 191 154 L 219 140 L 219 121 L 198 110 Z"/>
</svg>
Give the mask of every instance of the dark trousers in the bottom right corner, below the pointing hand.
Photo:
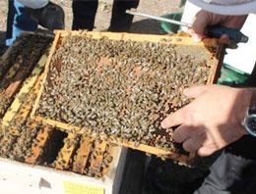
<svg viewBox="0 0 256 194">
<path fill-rule="evenodd" d="M 245 135 L 228 145 L 194 194 L 256 193 L 256 138 Z"/>
</svg>

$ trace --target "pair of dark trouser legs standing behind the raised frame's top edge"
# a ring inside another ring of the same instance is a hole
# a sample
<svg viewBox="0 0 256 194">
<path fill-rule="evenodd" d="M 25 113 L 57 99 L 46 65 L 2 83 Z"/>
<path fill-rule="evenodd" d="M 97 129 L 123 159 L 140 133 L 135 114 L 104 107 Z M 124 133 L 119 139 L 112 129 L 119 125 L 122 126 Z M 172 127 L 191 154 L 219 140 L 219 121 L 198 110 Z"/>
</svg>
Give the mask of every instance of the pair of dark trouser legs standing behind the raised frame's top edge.
<svg viewBox="0 0 256 194">
<path fill-rule="evenodd" d="M 98 1 L 73 0 L 72 29 L 93 30 Z M 112 16 L 108 31 L 129 31 L 133 16 L 125 13 L 126 10 L 137 8 L 139 0 L 114 0 Z"/>
</svg>

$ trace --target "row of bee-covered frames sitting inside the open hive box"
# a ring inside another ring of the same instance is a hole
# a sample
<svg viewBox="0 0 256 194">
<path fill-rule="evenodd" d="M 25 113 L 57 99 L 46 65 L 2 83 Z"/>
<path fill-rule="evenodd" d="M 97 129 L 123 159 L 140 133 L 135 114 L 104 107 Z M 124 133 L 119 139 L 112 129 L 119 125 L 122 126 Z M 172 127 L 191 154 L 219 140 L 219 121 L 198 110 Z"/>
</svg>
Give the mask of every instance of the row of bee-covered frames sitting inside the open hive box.
<svg viewBox="0 0 256 194">
<path fill-rule="evenodd" d="M 33 166 L 70 170 L 96 178 L 110 169 L 111 175 L 106 178 L 111 179 L 121 148 L 30 120 L 52 40 L 51 35 L 24 32 L 1 58 L 0 155 Z"/>
</svg>

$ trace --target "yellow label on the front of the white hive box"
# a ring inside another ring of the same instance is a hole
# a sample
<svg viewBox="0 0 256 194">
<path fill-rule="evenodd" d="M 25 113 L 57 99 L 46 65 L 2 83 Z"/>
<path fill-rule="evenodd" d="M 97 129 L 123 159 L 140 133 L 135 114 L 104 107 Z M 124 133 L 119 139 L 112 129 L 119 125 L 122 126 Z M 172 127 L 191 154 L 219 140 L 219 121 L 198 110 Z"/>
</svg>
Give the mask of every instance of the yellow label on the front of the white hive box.
<svg viewBox="0 0 256 194">
<path fill-rule="evenodd" d="M 104 194 L 104 188 L 102 187 L 91 186 L 67 180 L 63 180 L 63 186 L 65 193 L 69 194 Z"/>
</svg>

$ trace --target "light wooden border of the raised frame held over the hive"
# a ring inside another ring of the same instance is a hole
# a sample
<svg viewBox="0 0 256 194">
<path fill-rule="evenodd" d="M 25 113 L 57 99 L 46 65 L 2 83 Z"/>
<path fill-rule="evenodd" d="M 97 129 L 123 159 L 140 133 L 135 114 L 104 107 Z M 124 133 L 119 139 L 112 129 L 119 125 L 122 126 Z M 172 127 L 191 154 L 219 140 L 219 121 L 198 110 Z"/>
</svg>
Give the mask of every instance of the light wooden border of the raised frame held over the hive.
<svg viewBox="0 0 256 194">
<path fill-rule="evenodd" d="M 52 56 L 54 55 L 56 47 L 60 44 L 60 42 L 66 37 L 70 35 L 85 35 L 88 37 L 99 39 L 100 37 L 104 36 L 108 39 L 112 40 L 134 40 L 134 41 L 151 41 L 151 42 L 164 42 L 169 41 L 171 44 L 174 45 L 190 45 L 190 46 L 197 46 L 197 47 L 206 47 L 209 48 L 209 56 L 211 58 L 212 64 L 211 64 L 211 74 L 208 77 L 207 83 L 214 83 L 217 81 L 223 55 L 224 55 L 224 45 L 221 44 L 217 39 L 204 39 L 202 42 L 194 42 L 191 37 L 180 34 L 177 36 L 169 36 L 169 35 L 150 35 L 150 34 L 132 34 L 132 33 L 112 33 L 112 32 L 91 32 L 91 31 L 68 31 L 68 30 L 57 30 L 55 40 L 53 42 L 52 48 L 50 50 L 50 54 L 47 60 L 47 64 L 45 66 L 44 75 L 42 77 L 43 83 L 46 81 L 47 73 L 49 72 L 49 66 L 51 63 Z M 59 128 L 63 128 L 67 131 L 76 130 L 76 133 L 85 133 L 87 131 L 81 131 L 81 128 L 77 126 L 69 125 L 68 123 L 63 123 L 60 121 L 53 121 L 48 119 L 43 119 L 38 116 L 35 116 L 34 113 L 36 111 L 36 108 L 38 107 L 39 100 L 41 97 L 41 94 L 43 92 L 43 85 L 41 84 L 41 87 L 37 93 L 37 98 L 35 100 L 35 105 L 32 109 L 31 117 L 35 121 L 43 121 L 50 125 L 57 126 Z M 152 147 L 149 145 L 140 144 L 139 146 L 134 146 L 134 142 L 125 142 L 121 139 L 117 139 L 117 141 L 112 141 L 112 143 L 116 143 L 121 146 L 130 147 L 137 150 L 142 150 L 151 154 L 164 156 L 166 158 L 171 158 L 173 160 L 179 161 L 181 163 L 187 164 L 190 160 L 192 160 L 195 157 L 195 153 L 190 153 L 189 156 L 178 154 L 178 153 L 172 153 L 169 151 L 164 151 L 157 147 Z"/>
</svg>

